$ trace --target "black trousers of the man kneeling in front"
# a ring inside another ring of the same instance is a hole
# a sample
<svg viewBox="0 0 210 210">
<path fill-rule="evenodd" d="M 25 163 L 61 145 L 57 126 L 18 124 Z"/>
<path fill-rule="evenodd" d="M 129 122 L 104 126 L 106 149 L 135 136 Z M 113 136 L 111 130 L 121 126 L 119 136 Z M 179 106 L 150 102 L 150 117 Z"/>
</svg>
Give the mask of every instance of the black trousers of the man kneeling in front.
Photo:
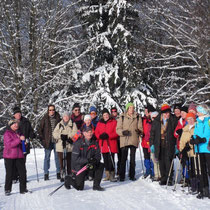
<svg viewBox="0 0 210 210">
<path fill-rule="evenodd" d="M 93 186 L 99 186 L 101 183 L 101 179 L 104 172 L 104 164 L 99 163 L 93 169 L 94 171 L 94 179 L 93 179 Z M 75 179 L 71 179 L 71 185 L 77 190 L 83 190 L 85 185 L 85 176 L 88 174 L 88 170 L 82 172 Z"/>
</svg>

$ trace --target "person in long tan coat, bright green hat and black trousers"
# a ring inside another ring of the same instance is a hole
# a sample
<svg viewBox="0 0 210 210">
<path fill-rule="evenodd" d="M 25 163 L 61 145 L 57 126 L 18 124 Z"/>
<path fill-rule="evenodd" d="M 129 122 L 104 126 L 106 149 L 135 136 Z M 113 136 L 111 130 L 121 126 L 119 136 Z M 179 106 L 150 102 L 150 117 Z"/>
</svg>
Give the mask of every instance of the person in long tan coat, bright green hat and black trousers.
<svg viewBox="0 0 210 210">
<path fill-rule="evenodd" d="M 143 132 L 141 116 L 134 111 L 134 104 L 126 104 L 126 112 L 117 120 L 117 134 L 120 136 L 121 166 L 120 181 L 125 180 L 126 161 L 130 149 L 130 180 L 135 181 L 136 148 L 139 144 L 139 136 Z"/>
</svg>

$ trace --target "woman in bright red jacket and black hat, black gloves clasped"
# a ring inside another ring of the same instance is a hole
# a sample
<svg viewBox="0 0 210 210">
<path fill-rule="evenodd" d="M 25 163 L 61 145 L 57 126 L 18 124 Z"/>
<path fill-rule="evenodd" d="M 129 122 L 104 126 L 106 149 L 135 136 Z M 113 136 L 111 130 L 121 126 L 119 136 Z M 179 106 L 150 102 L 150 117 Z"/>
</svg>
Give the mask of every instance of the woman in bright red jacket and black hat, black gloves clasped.
<svg viewBox="0 0 210 210">
<path fill-rule="evenodd" d="M 117 121 L 110 118 L 108 109 L 102 110 L 102 119 L 98 122 L 95 136 L 99 141 L 99 147 L 104 158 L 106 180 L 116 182 L 114 172 L 114 154 L 118 153 L 116 133 Z"/>
</svg>

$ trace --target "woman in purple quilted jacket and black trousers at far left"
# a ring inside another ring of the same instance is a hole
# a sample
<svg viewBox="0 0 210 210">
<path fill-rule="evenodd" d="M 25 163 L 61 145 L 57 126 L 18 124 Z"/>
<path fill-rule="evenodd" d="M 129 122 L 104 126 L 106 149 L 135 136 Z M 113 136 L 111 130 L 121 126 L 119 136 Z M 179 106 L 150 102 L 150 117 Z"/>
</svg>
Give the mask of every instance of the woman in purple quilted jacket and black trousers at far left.
<svg viewBox="0 0 210 210">
<path fill-rule="evenodd" d="M 19 121 L 12 119 L 8 122 L 9 128 L 4 133 L 4 151 L 3 158 L 6 169 L 5 178 L 5 195 L 8 196 L 12 191 L 12 178 L 14 167 L 16 167 L 19 180 L 20 180 L 20 193 L 27 193 L 26 188 L 26 167 L 25 167 L 25 157 L 23 154 L 22 143 L 25 141 L 25 136 L 23 136 L 19 131 Z M 25 144 L 25 142 L 24 142 Z"/>
</svg>

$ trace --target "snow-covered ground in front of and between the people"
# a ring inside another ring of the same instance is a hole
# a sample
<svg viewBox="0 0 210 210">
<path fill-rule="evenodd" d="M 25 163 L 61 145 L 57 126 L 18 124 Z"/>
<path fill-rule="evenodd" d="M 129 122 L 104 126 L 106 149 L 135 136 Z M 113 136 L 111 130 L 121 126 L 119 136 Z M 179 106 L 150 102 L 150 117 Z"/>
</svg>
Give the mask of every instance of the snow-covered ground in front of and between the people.
<svg viewBox="0 0 210 210">
<path fill-rule="evenodd" d="M 13 184 L 12 195 L 4 195 L 5 169 L 4 160 L 0 160 L 0 210 L 80 210 L 80 209 L 210 209 L 210 199 L 198 200 L 193 195 L 182 192 L 180 185 L 177 191 L 173 187 L 159 186 L 157 182 L 143 180 L 139 150 L 137 151 L 137 166 L 135 182 L 104 182 L 101 186 L 106 190 L 97 192 L 92 190 L 92 182 L 85 182 L 84 191 L 74 188 L 66 190 L 59 189 L 53 196 L 49 193 L 60 186 L 56 179 L 54 157 L 52 153 L 50 180 L 43 180 L 44 150 L 36 149 L 39 182 L 37 182 L 34 153 L 27 157 L 27 187 L 32 193 L 19 194 L 19 183 Z"/>
</svg>

